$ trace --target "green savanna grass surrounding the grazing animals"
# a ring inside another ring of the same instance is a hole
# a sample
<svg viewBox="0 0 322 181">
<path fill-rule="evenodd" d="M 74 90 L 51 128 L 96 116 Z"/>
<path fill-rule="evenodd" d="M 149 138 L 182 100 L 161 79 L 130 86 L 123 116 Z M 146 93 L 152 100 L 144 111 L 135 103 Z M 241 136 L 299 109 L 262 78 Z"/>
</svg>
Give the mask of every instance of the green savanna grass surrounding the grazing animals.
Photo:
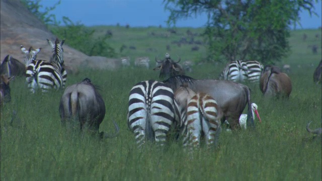
<svg viewBox="0 0 322 181">
<path fill-rule="evenodd" d="M 148 56 L 163 58 L 169 52 L 174 59 L 200 62 L 206 49 L 191 51 L 191 45 L 172 45 L 187 29 L 178 29 L 170 38 L 151 36 L 167 32 L 158 28 L 93 27 L 97 33 L 113 32 L 110 45 L 122 56 L 134 59 Z M 200 33 L 202 29 L 190 29 Z M 302 40 L 303 33 L 307 39 Z M 315 37 L 318 34 L 319 37 Z M 195 38 L 201 39 L 202 38 Z M 23 77 L 10 84 L 12 101 L 1 109 L 1 180 L 321 180 L 321 137 L 305 130 L 321 127 L 321 84 L 313 83 L 313 71 L 321 60 L 320 30 L 294 31 L 289 39 L 292 52 L 278 65 L 290 64 L 293 85 L 289 100 L 265 99 L 258 84 L 252 89 L 252 102 L 258 105 L 262 119 L 256 130 L 222 131 L 219 147 L 202 146 L 192 154 L 180 142 L 170 141 L 164 148 L 147 143 L 142 150 L 135 145 L 127 128 L 128 94 L 142 80 L 158 79 L 150 69 L 123 67 L 114 71 L 79 69 L 68 75 L 67 85 L 89 77 L 100 86 L 106 115 L 100 131 L 113 133 L 112 120 L 120 126 L 119 136 L 98 140 L 60 124 L 58 105 L 63 90 L 50 94 L 30 94 Z M 68 44 L 68 40 L 66 40 Z M 171 51 L 166 50 L 167 44 Z M 313 54 L 309 45 L 318 45 Z M 153 51 L 146 51 L 153 48 Z M 260 61 L 260 60 L 259 60 Z M 217 78 L 224 64 L 194 65 L 187 75 Z M 13 112 L 17 114 L 13 116 Z"/>
</svg>

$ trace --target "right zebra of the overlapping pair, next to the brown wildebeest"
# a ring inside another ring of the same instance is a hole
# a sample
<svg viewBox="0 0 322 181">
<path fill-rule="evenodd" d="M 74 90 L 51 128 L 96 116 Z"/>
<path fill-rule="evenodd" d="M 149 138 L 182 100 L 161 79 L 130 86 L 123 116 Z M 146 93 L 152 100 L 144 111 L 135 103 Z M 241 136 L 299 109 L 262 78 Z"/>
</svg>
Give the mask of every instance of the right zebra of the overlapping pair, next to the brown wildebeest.
<svg viewBox="0 0 322 181">
<path fill-rule="evenodd" d="M 263 64 L 256 60 L 250 60 L 245 62 L 247 65 L 247 76 L 250 82 L 259 82 L 264 70 Z"/>
</svg>

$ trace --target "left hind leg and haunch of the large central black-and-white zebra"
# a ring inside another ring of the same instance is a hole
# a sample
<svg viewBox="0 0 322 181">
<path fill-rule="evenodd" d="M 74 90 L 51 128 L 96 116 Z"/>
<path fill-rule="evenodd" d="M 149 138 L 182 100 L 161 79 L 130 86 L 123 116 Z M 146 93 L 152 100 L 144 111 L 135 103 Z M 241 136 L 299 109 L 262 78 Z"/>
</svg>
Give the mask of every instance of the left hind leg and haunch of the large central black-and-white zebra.
<svg viewBox="0 0 322 181">
<path fill-rule="evenodd" d="M 131 95 L 132 96 L 132 95 Z M 131 98 L 130 100 L 134 98 Z M 134 132 L 136 143 L 140 147 L 145 143 L 145 131 L 148 119 L 148 113 L 144 102 L 136 102 L 129 105 L 128 125 Z"/>
</svg>

